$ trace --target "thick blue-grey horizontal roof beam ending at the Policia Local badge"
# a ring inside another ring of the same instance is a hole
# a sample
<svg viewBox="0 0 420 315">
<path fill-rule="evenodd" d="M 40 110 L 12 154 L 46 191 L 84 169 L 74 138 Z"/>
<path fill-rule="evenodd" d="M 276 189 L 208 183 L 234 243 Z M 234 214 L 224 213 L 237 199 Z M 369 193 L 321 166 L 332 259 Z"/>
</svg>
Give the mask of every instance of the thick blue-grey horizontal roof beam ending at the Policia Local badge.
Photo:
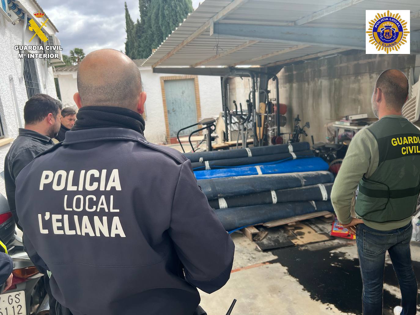
<svg viewBox="0 0 420 315">
<path fill-rule="evenodd" d="M 213 28 L 213 33 L 220 37 L 365 50 L 365 29 L 234 23 L 215 23 Z"/>
</svg>

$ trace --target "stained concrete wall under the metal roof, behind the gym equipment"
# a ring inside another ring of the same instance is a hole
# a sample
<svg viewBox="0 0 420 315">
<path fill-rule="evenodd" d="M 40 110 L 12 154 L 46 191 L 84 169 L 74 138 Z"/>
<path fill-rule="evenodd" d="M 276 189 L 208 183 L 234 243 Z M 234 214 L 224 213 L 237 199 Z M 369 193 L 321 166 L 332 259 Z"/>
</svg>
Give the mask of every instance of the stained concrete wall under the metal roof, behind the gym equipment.
<svg viewBox="0 0 420 315">
<path fill-rule="evenodd" d="M 371 97 L 376 79 L 382 71 L 398 68 L 408 75 L 415 65 L 415 55 L 339 55 L 283 68 L 278 74 L 280 102 L 288 105 L 287 124 L 281 132 L 293 130 L 293 118 L 299 114 L 301 126 L 310 122 L 308 139 L 325 142 L 325 123 L 345 115 L 367 113 L 375 118 Z M 230 103 L 248 97 L 248 79 L 229 80 Z M 273 82 L 268 89 L 275 92 Z M 270 95 L 270 97 L 273 97 Z M 243 104 L 243 103 L 242 103 Z"/>
</svg>

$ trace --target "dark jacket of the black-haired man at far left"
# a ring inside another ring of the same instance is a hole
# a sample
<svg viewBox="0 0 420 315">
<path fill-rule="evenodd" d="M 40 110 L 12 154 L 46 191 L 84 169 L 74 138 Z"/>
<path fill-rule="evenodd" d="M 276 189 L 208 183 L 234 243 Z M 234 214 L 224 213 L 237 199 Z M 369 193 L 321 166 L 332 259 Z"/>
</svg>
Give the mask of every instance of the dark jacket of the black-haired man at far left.
<svg viewBox="0 0 420 315">
<path fill-rule="evenodd" d="M 16 177 L 39 153 L 53 147 L 50 137 L 36 131 L 19 128 L 19 135 L 13 141 L 4 159 L 4 181 L 6 196 L 13 218 L 18 224 L 15 205 Z"/>
</svg>

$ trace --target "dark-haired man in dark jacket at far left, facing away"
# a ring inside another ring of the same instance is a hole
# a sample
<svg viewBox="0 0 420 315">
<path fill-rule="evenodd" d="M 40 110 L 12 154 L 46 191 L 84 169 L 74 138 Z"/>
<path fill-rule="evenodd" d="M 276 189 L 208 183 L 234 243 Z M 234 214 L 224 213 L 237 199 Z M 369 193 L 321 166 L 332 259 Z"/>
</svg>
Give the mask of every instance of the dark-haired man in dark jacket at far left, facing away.
<svg viewBox="0 0 420 315">
<path fill-rule="evenodd" d="M 51 140 L 60 130 L 61 102 L 46 94 L 37 94 L 26 101 L 25 128 L 13 141 L 4 160 L 4 180 L 9 207 L 16 225 L 21 229 L 16 215 L 16 177 L 39 153 L 52 147 Z"/>
</svg>

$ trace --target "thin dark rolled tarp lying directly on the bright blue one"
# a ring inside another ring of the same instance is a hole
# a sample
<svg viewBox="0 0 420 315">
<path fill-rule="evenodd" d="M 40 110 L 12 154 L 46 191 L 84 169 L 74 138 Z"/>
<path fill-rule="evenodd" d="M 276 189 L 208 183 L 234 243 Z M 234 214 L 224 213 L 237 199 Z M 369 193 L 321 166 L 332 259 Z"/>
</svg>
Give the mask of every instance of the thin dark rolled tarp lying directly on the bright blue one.
<svg viewBox="0 0 420 315">
<path fill-rule="evenodd" d="M 233 150 L 232 150 L 233 151 Z M 280 153 L 280 154 L 270 154 L 270 155 L 261 155 L 261 156 L 252 156 L 252 157 L 238 157 L 225 160 L 212 160 L 212 161 L 203 161 L 203 162 L 193 162 L 191 163 L 192 169 L 194 171 L 202 170 L 211 170 L 215 168 L 231 168 L 239 165 L 258 165 L 258 164 L 273 164 L 272 162 L 281 162 L 286 160 L 294 160 L 304 157 L 313 157 L 313 152 L 311 150 L 299 151 L 299 152 L 290 152 L 290 153 Z"/>
</svg>

